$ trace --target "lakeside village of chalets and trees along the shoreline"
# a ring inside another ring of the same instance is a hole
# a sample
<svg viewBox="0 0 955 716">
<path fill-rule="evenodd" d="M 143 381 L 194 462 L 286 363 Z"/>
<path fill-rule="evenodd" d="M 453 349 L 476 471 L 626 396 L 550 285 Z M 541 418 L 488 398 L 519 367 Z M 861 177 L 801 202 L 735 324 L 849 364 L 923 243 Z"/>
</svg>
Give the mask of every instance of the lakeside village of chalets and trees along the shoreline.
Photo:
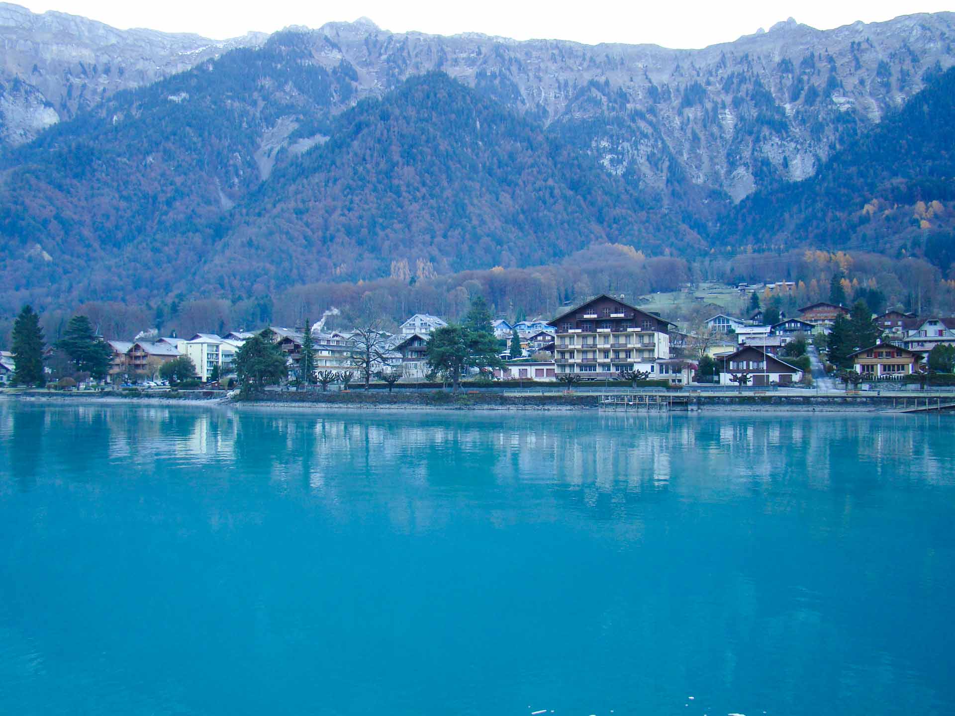
<svg viewBox="0 0 955 716">
<path fill-rule="evenodd" d="M 922 409 L 942 411 L 948 393 L 955 400 L 955 318 L 873 315 L 863 302 L 787 317 L 760 308 L 756 287 L 739 290 L 751 288 L 747 317 L 719 313 L 690 329 L 612 294 L 514 322 L 478 296 L 459 324 L 418 313 L 394 333 L 374 320 L 326 329 L 327 311 L 298 328 L 188 338 L 152 329 L 120 341 L 78 315 L 53 346 L 27 306 L 14 351 L 0 353 L 0 388 L 345 409 L 899 411 L 919 409 L 922 396 Z"/>
</svg>

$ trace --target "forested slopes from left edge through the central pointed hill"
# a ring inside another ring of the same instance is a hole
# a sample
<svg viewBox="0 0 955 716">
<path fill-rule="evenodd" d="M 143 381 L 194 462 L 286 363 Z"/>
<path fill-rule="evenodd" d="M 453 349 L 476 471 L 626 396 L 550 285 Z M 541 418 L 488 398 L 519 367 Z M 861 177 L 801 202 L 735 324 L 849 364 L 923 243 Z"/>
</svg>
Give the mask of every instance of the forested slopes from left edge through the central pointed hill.
<svg viewBox="0 0 955 716">
<path fill-rule="evenodd" d="M 393 261 L 528 265 L 592 242 L 702 248 L 593 158 L 446 75 L 329 118 L 348 69 L 298 61 L 300 38 L 120 93 L 16 150 L 0 187 L 5 307 L 235 296 L 387 276 Z M 264 145 L 275 124 L 308 154 Z"/>
</svg>

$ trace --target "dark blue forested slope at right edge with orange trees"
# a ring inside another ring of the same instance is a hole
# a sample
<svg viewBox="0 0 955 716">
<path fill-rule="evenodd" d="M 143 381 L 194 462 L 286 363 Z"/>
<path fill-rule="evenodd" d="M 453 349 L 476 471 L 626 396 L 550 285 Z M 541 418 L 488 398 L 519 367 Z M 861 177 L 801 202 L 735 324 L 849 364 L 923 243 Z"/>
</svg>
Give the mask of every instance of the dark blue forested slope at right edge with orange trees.
<svg viewBox="0 0 955 716">
<path fill-rule="evenodd" d="M 953 229 L 955 68 L 850 141 L 816 177 L 740 203 L 716 241 L 924 254 L 947 271 Z"/>
</svg>

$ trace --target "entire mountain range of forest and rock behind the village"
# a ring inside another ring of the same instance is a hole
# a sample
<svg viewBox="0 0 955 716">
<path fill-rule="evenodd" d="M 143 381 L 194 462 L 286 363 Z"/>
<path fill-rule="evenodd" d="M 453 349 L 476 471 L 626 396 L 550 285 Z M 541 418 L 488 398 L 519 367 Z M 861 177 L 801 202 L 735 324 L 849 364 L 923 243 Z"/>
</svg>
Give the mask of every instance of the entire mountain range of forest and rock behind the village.
<svg viewBox="0 0 955 716">
<path fill-rule="evenodd" d="M 944 243 L 955 214 L 953 19 L 790 20 L 678 51 L 367 20 L 216 42 L 0 5 L 0 311 L 532 265 L 601 242 L 924 252 L 898 237 Z M 880 142 L 900 137 L 893 168 Z M 881 170 L 836 205 L 825 187 L 854 161 Z M 825 221 L 807 219 L 826 197 Z"/>
</svg>

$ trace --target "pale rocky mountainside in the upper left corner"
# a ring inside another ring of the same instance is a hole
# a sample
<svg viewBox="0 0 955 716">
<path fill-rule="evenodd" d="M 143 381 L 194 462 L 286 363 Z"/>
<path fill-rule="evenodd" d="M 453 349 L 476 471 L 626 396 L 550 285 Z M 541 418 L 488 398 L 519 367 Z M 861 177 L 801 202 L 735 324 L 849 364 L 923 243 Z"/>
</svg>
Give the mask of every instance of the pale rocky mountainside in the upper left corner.
<svg viewBox="0 0 955 716">
<path fill-rule="evenodd" d="M 63 12 L 0 3 L 0 146 L 28 142 L 105 96 L 188 70 L 264 33 L 231 40 L 152 30 L 119 31 Z"/>
</svg>

